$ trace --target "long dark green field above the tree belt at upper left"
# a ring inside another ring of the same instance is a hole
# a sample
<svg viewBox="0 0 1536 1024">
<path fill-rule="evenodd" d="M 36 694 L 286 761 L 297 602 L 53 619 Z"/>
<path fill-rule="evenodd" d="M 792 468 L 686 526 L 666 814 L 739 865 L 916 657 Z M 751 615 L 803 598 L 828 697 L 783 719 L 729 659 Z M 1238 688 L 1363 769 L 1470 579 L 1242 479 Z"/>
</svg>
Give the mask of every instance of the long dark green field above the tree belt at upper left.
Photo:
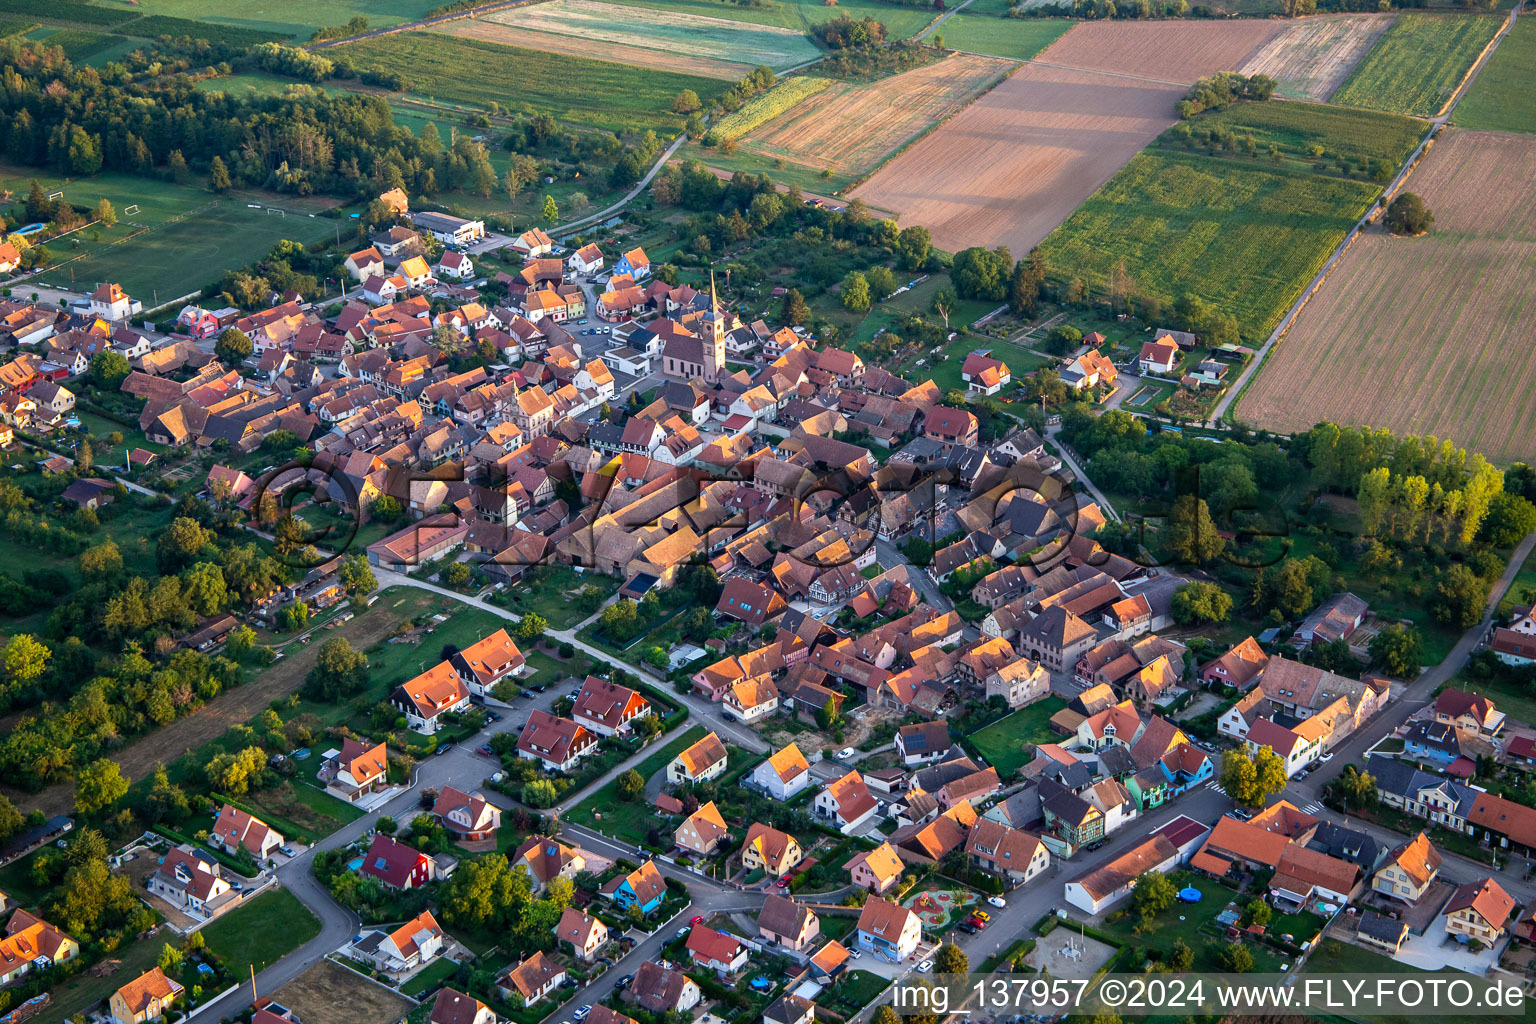
<svg viewBox="0 0 1536 1024">
<path fill-rule="evenodd" d="M 693 89 L 710 101 L 728 84 L 433 32 L 359 40 L 338 52 L 359 66 L 401 75 L 412 92 L 513 111 L 531 106 L 608 130 L 676 132 L 682 118 L 671 112 L 673 97 Z M 465 74 L 468 68 L 475 74 Z"/>
</svg>

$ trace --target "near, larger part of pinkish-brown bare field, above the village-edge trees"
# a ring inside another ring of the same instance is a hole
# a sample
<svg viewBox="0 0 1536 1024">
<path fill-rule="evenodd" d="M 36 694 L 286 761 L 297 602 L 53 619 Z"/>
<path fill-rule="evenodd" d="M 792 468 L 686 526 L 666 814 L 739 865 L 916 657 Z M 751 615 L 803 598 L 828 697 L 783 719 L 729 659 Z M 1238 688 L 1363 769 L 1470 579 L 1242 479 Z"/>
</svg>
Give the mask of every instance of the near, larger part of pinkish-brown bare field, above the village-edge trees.
<svg viewBox="0 0 1536 1024">
<path fill-rule="evenodd" d="M 899 212 L 902 224 L 923 224 L 940 249 L 1023 253 L 1172 124 L 1183 94 L 1183 86 L 1025 64 L 852 195 Z"/>
</svg>

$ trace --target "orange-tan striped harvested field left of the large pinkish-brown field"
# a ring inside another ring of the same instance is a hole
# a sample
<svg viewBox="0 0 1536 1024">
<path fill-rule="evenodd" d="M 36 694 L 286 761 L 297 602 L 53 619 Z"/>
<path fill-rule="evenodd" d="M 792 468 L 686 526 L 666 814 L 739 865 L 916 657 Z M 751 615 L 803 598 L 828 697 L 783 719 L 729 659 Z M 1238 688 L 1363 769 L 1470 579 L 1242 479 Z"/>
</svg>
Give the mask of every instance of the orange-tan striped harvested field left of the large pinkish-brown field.
<svg viewBox="0 0 1536 1024">
<path fill-rule="evenodd" d="M 836 173 L 866 173 L 1011 68 L 954 54 L 869 84 L 839 81 L 763 124 L 743 147 Z"/>
</svg>

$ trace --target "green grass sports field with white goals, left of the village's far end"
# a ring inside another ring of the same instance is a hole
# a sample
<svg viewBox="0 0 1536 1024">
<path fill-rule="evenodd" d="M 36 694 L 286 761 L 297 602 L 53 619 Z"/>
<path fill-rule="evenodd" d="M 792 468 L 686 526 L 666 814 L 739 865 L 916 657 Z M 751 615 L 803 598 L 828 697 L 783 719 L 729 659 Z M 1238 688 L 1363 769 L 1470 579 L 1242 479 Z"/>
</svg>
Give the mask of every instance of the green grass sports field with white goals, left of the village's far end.
<svg viewBox="0 0 1536 1024">
<path fill-rule="evenodd" d="M 104 197 L 118 215 L 117 227 L 84 229 L 69 239 L 49 241 L 55 266 L 38 279 L 77 290 L 117 281 L 144 309 L 157 293 L 164 302 L 214 284 L 224 270 L 261 258 L 284 238 L 307 244 L 333 236 L 338 223 L 309 216 L 307 210 L 316 204 L 290 197 L 220 198 L 192 186 L 115 173 L 61 183 L 32 170 L 0 167 L 0 187 L 17 195 L 26 195 L 31 178 L 49 190 L 61 187 L 75 206 L 95 206 Z M 247 206 L 266 207 L 269 200 L 290 212 L 280 216 Z M 301 209 L 303 203 L 309 206 Z M 127 215 L 134 204 L 138 213 Z M 78 247 L 74 238 L 80 239 Z"/>
</svg>

